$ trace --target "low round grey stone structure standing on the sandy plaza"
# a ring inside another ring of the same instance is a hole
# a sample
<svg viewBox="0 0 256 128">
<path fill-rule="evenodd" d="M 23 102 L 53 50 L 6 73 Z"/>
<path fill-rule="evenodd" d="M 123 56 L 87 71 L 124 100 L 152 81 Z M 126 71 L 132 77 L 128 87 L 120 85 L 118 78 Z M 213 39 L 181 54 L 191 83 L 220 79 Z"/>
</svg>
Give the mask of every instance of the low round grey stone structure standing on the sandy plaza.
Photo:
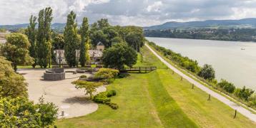
<svg viewBox="0 0 256 128">
<path fill-rule="evenodd" d="M 65 72 L 64 68 L 49 68 L 45 70 L 44 73 L 44 80 L 64 80 L 65 79 Z"/>
</svg>

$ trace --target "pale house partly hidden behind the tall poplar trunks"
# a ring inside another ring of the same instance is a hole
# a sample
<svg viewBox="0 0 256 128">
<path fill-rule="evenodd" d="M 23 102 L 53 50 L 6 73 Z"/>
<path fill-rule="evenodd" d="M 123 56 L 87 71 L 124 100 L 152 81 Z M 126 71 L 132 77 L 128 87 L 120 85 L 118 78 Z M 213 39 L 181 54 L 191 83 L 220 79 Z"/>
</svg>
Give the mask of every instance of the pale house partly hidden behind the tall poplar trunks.
<svg viewBox="0 0 256 128">
<path fill-rule="evenodd" d="M 97 43 L 95 50 L 88 50 L 89 57 L 90 57 L 90 64 L 100 64 L 102 63 L 102 55 L 104 50 L 104 44 L 99 42 Z M 76 58 L 79 60 L 79 52 L 80 50 L 76 50 Z M 65 51 L 64 50 L 54 50 L 54 53 L 56 54 L 56 62 L 62 65 L 67 64 L 66 58 L 65 58 Z"/>
</svg>

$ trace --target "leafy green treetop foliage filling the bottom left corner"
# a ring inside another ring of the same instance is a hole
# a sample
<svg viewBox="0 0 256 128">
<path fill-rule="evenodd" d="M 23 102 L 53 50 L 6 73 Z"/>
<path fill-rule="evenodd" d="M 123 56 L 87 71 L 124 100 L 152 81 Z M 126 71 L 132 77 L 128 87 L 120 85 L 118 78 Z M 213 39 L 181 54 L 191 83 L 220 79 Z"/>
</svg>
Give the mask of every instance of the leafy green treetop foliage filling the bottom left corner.
<svg viewBox="0 0 256 128">
<path fill-rule="evenodd" d="M 57 119 L 57 108 L 40 100 L 38 105 L 26 98 L 0 98 L 0 126 L 49 127 Z"/>
</svg>

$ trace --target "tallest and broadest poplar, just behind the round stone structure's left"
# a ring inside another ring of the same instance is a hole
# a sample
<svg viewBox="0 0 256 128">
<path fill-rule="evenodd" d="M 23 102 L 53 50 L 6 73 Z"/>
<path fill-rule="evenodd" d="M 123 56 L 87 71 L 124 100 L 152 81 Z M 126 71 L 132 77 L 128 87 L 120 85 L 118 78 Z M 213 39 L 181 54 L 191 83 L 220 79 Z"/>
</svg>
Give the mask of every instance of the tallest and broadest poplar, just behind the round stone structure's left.
<svg viewBox="0 0 256 128">
<path fill-rule="evenodd" d="M 40 67 L 46 68 L 51 62 L 51 21 L 52 9 L 48 7 L 39 11 L 36 53 Z"/>
</svg>

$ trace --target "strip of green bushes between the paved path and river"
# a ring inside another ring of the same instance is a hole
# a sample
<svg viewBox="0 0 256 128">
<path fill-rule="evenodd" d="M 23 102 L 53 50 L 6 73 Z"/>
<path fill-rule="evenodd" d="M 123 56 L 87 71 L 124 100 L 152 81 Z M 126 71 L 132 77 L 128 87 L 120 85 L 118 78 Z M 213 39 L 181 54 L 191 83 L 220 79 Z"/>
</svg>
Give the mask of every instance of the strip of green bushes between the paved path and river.
<svg viewBox="0 0 256 128">
<path fill-rule="evenodd" d="M 203 67 L 200 67 L 196 60 L 191 60 L 179 53 L 174 53 L 172 50 L 157 46 L 153 42 L 148 42 L 148 44 L 164 55 L 165 58 L 171 60 L 172 63 L 197 75 L 197 78 L 200 78 L 200 80 L 210 83 L 215 89 L 225 92 L 225 94 L 245 103 L 245 105 L 256 109 L 256 93 L 254 90 L 246 88 L 245 86 L 242 88 L 235 87 L 233 83 L 223 79 L 220 80 L 220 82 L 217 82 L 217 80 L 215 80 L 215 70 L 211 65 L 206 64 Z"/>
</svg>

